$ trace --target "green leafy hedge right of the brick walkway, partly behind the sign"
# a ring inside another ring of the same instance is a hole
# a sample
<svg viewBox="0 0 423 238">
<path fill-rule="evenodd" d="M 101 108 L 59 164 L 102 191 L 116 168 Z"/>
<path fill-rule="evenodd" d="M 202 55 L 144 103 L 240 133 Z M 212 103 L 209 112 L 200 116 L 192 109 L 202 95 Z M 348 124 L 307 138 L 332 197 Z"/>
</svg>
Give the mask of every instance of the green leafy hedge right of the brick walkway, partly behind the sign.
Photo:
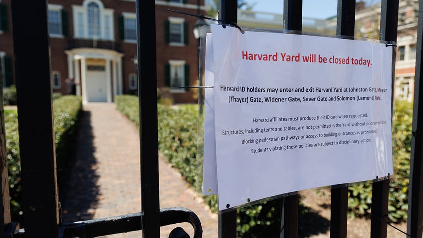
<svg viewBox="0 0 423 238">
<path fill-rule="evenodd" d="M 138 122 L 138 99 L 134 96 L 116 98 L 116 105 L 125 115 L 133 115 Z M 397 102 L 395 131 L 393 134 L 393 157 L 396 177 L 391 181 L 389 197 L 389 218 L 391 221 L 404 221 L 407 218 L 407 190 L 409 183 L 409 158 L 411 142 L 411 103 Z M 128 116 L 129 117 L 129 116 Z M 202 171 L 199 164 L 203 158 L 196 158 L 198 106 L 180 105 L 172 108 L 158 105 L 159 149 L 184 178 L 200 188 Z M 199 141 L 202 141 L 201 139 Z M 201 145 L 200 145 L 201 146 Z M 349 187 L 349 215 L 370 216 L 372 189 L 369 184 Z M 217 210 L 216 197 L 206 196 L 205 201 L 213 211 Z M 249 206 L 238 210 L 238 235 L 253 237 L 254 232 L 278 231 L 280 207 L 278 202 Z M 276 225 L 275 225 L 276 224 Z M 267 236 L 268 234 L 263 236 Z"/>
</svg>

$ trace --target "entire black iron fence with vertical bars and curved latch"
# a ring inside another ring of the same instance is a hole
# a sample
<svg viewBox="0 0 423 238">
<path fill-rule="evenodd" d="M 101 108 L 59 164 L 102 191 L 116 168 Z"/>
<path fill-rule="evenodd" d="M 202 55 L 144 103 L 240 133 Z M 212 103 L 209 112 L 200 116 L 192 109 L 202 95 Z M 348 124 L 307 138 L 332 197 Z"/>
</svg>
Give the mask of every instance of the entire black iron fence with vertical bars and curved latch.
<svg viewBox="0 0 423 238">
<path fill-rule="evenodd" d="M 284 0 L 283 26 L 285 29 L 302 28 L 302 0 Z M 396 41 L 399 0 L 382 0 L 380 39 Z M 219 18 L 237 22 L 237 1 L 220 0 Z M 423 0 L 419 1 L 419 22 L 416 50 L 416 75 L 412 129 L 412 155 L 408 209 L 408 233 L 422 237 L 423 223 L 423 77 L 422 33 Z M 138 85 L 140 103 L 141 151 L 141 207 L 140 213 L 99 220 L 63 224 L 58 203 L 56 161 L 51 104 L 49 37 L 46 0 L 12 1 L 15 71 L 20 136 L 20 154 L 23 187 L 25 229 L 19 230 L 10 221 L 8 178 L 4 146 L 4 118 L 1 107 L 1 176 L 2 206 L 0 237 L 94 237 L 113 233 L 142 230 L 142 236 L 158 238 L 160 226 L 189 222 L 195 237 L 201 237 L 197 216 L 183 208 L 159 208 L 157 96 L 156 96 L 156 28 L 155 1 L 136 0 L 138 22 Z M 355 0 L 338 0 L 337 35 L 353 36 Z M 147 23 L 148 22 L 148 23 Z M 141 35 L 142 32 L 142 35 Z M 1 68 L 1 67 L 0 67 Z M 148 78 L 149 80 L 140 80 Z M 0 101 L 2 104 L 2 101 Z M 144 139 L 144 138 L 148 138 Z M 336 186 L 335 186 L 336 187 Z M 387 233 L 389 181 L 373 184 L 371 237 L 385 238 Z M 333 238 L 347 237 L 348 188 L 332 189 L 331 227 Z M 281 234 L 283 238 L 298 237 L 298 195 L 280 199 L 283 205 Z M 179 229 L 174 234 L 179 236 Z M 184 236 L 181 236 L 184 237 Z M 216 234 L 217 237 L 217 234 Z M 236 211 L 219 216 L 219 237 L 236 237 Z"/>
</svg>

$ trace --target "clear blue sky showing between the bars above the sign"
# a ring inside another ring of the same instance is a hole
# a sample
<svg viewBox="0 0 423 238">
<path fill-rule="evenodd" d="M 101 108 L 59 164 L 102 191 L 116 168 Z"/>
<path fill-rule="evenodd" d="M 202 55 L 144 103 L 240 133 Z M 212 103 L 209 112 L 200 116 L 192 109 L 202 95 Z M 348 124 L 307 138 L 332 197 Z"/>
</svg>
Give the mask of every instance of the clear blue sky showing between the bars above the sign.
<svg viewBox="0 0 423 238">
<path fill-rule="evenodd" d="M 253 5 L 254 11 L 267 13 L 283 13 L 283 0 L 245 0 Z M 364 0 L 367 3 L 376 3 L 376 0 Z M 336 15 L 338 0 L 303 0 L 303 17 L 327 19 Z"/>
</svg>

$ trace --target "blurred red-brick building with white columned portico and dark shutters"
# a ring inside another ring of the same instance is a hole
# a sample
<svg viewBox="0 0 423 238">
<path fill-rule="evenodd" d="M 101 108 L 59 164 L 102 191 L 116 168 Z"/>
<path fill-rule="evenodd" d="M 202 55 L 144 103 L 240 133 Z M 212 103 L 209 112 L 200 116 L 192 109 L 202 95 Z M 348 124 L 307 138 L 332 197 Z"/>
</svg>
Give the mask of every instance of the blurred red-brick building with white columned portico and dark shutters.
<svg viewBox="0 0 423 238">
<path fill-rule="evenodd" d="M 10 3 L 0 0 L 5 86 L 14 84 Z M 171 87 L 197 84 L 198 41 L 192 33 L 197 19 L 168 9 L 199 14 L 204 0 L 156 0 L 157 86 L 169 88 L 176 103 L 195 102 L 193 91 Z M 137 91 L 135 0 L 48 0 L 48 26 L 53 92 L 70 93 L 73 81 L 86 103 L 112 102 Z"/>
</svg>

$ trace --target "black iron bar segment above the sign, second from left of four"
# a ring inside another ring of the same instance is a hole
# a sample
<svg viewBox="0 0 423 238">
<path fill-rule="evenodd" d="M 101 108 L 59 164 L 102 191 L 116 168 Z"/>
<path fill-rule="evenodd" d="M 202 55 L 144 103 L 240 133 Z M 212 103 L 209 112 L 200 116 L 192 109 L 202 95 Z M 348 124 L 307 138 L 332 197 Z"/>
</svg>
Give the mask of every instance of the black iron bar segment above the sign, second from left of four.
<svg viewBox="0 0 423 238">
<path fill-rule="evenodd" d="M 283 1 L 283 29 L 301 30 L 303 17 L 303 0 Z"/>
</svg>

